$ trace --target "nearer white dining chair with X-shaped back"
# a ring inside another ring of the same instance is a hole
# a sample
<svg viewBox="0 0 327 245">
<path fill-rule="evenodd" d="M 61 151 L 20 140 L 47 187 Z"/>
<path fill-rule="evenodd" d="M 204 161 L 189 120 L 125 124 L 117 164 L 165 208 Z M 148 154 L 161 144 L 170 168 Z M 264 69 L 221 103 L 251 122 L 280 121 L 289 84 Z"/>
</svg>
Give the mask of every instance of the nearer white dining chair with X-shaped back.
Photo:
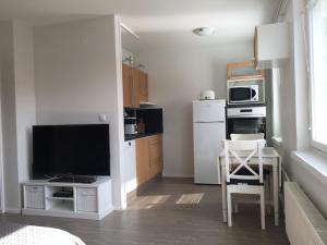
<svg viewBox="0 0 327 245">
<path fill-rule="evenodd" d="M 262 229 L 265 224 L 265 186 L 262 149 L 265 140 L 225 140 L 228 226 L 232 225 L 232 198 L 234 194 L 255 194 L 261 197 Z M 242 155 L 241 155 L 242 154 Z M 257 164 L 250 166 L 253 156 L 257 155 Z M 245 156 L 245 157 L 244 157 Z M 234 161 L 231 162 L 231 159 Z M 257 166 L 258 170 L 253 166 Z M 234 168 L 231 168 L 234 167 Z"/>
</svg>

